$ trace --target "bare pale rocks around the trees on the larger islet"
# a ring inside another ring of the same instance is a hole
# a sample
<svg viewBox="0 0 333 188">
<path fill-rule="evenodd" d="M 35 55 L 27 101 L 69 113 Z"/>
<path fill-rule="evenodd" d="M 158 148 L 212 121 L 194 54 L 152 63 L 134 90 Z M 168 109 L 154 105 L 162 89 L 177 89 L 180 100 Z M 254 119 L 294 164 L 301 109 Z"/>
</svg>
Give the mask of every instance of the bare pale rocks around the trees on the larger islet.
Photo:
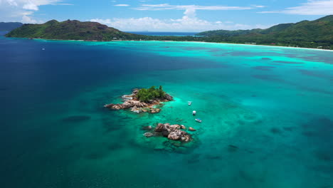
<svg viewBox="0 0 333 188">
<path fill-rule="evenodd" d="M 161 102 L 168 102 L 174 100 L 171 95 L 165 94 L 164 98 L 155 98 L 154 100 L 149 100 L 148 103 L 140 102 L 137 98 L 139 89 L 133 89 L 132 94 L 122 95 L 122 104 L 107 104 L 104 105 L 105 108 L 110 108 L 112 110 L 122 110 L 131 109 L 134 113 L 159 113 L 160 108 L 154 108 L 155 105 L 160 105 Z"/>
</svg>

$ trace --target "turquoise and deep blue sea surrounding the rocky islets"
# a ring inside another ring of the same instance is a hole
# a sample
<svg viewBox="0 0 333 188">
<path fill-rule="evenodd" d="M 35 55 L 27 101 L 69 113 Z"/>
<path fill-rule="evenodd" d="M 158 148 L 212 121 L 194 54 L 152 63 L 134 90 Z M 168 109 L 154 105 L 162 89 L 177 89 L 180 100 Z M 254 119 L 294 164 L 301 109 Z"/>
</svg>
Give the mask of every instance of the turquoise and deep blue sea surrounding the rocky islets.
<svg viewBox="0 0 333 188">
<path fill-rule="evenodd" d="M 0 37 L 0 59 L 1 188 L 333 186 L 332 51 Z M 103 108 L 151 85 L 161 113 Z"/>
</svg>

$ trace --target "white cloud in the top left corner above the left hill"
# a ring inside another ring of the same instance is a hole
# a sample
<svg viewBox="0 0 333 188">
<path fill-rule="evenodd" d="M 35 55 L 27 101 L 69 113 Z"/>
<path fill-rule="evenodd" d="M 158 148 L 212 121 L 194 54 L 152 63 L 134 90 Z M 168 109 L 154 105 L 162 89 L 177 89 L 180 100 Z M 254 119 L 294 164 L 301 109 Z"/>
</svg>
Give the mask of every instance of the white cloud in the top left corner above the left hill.
<svg viewBox="0 0 333 188">
<path fill-rule="evenodd" d="M 34 12 L 43 5 L 71 5 L 60 3 L 63 0 L 0 0 L 0 21 L 22 21 L 23 23 L 39 23 L 32 19 Z"/>
</svg>

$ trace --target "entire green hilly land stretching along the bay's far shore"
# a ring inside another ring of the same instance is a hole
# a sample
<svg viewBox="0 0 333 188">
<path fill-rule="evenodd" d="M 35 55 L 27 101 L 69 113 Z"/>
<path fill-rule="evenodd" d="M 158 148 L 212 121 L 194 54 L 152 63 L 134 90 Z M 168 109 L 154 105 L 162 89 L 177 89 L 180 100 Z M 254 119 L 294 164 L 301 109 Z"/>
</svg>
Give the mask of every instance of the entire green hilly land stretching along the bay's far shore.
<svg viewBox="0 0 333 188">
<path fill-rule="evenodd" d="M 146 36 L 122 32 L 97 22 L 51 20 L 43 24 L 23 24 L 6 36 L 83 41 L 201 41 L 333 50 L 333 15 L 266 29 L 205 31 L 196 36 Z"/>
</svg>

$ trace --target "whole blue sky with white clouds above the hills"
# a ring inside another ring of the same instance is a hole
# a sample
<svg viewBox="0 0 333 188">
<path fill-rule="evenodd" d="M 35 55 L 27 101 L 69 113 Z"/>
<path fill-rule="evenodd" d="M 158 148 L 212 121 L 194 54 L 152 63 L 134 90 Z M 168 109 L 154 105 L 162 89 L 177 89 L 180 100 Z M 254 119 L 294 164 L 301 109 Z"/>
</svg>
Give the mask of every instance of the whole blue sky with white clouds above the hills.
<svg viewBox="0 0 333 188">
<path fill-rule="evenodd" d="M 0 0 L 0 21 L 98 21 L 122 31 L 268 28 L 333 14 L 333 0 Z"/>
</svg>

